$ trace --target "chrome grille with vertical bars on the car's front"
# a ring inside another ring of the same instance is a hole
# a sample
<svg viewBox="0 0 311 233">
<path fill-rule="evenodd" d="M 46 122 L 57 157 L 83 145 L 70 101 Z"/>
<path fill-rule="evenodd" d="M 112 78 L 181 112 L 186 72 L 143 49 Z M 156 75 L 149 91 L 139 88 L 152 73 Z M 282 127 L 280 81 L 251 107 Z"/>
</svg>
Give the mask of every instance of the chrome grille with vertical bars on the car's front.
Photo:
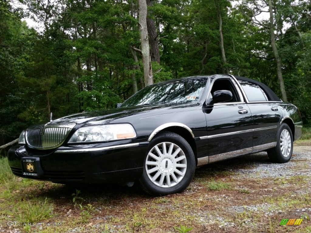
<svg viewBox="0 0 311 233">
<path fill-rule="evenodd" d="M 47 125 L 26 130 L 27 144 L 37 149 L 55 148 L 62 144 L 75 124 Z"/>
</svg>

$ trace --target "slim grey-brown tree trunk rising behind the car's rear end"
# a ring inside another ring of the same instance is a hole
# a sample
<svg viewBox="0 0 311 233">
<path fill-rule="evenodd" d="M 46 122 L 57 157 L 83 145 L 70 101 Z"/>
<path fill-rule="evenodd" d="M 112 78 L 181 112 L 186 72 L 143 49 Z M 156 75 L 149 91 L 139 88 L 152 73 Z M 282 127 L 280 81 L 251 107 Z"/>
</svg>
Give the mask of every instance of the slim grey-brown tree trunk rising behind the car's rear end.
<svg viewBox="0 0 311 233">
<path fill-rule="evenodd" d="M 279 56 L 278 50 L 276 48 L 276 42 L 275 42 L 275 34 L 274 34 L 274 21 L 273 21 L 273 12 L 272 12 L 272 2 L 271 0 L 268 1 L 269 5 L 269 13 L 270 13 L 270 35 L 271 35 L 271 47 L 274 52 L 274 57 L 276 59 L 276 64 L 277 64 L 277 78 L 280 83 L 280 89 L 282 93 L 282 100 L 287 102 L 287 96 L 285 92 L 285 86 L 284 86 L 284 81 L 282 77 L 282 63 L 281 63 L 281 58 Z"/>
</svg>

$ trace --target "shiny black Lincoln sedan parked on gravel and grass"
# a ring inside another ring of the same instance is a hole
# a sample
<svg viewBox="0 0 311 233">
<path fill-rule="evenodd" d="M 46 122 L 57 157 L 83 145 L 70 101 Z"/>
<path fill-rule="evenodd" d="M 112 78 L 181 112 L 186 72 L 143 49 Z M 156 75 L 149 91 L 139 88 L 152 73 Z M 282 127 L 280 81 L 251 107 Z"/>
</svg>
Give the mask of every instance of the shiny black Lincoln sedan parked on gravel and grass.
<svg viewBox="0 0 311 233">
<path fill-rule="evenodd" d="M 55 183 L 139 181 L 151 195 L 181 192 L 195 168 L 267 151 L 288 162 L 300 113 L 266 85 L 193 76 L 140 90 L 117 108 L 30 126 L 8 152 L 16 176 Z"/>
</svg>

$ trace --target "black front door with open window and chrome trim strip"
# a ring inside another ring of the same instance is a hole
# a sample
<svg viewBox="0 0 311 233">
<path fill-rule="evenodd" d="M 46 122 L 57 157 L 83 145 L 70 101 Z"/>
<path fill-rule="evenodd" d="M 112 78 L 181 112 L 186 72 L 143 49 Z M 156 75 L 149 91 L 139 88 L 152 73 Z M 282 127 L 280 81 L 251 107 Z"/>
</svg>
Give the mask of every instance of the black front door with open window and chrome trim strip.
<svg viewBox="0 0 311 233">
<path fill-rule="evenodd" d="M 226 103 L 206 104 L 209 163 L 252 153 L 253 119 L 248 105 L 230 78 L 215 78 L 208 98 L 217 90 L 229 90 L 232 100 Z"/>
</svg>

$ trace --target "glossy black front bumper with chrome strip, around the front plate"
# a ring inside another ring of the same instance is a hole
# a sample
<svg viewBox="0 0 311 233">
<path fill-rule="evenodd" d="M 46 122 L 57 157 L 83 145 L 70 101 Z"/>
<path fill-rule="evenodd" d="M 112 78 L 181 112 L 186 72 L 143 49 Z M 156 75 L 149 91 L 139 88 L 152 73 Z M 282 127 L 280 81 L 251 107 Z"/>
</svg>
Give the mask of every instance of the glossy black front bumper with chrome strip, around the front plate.
<svg viewBox="0 0 311 233">
<path fill-rule="evenodd" d="M 77 145 L 53 151 L 31 150 L 15 146 L 8 151 L 8 161 L 16 176 L 56 183 L 127 182 L 142 176 L 148 143 L 120 145 Z M 36 160 L 36 176 L 25 172 L 22 161 Z M 25 175 L 27 174 L 27 175 Z"/>
</svg>

